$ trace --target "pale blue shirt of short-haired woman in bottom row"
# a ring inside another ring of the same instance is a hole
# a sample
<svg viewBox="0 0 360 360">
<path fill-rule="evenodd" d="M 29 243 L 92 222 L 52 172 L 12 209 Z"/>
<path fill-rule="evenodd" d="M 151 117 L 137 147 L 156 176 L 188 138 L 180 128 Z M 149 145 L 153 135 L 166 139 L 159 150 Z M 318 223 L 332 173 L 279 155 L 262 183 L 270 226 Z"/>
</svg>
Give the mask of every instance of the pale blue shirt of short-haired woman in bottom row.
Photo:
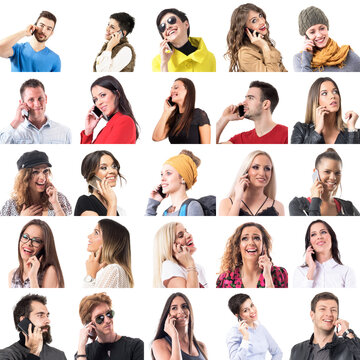
<svg viewBox="0 0 360 360">
<path fill-rule="evenodd" d="M 249 327 L 248 332 L 249 340 L 246 341 L 237 326 L 229 331 L 226 344 L 230 360 L 265 360 L 267 351 L 273 360 L 282 359 L 282 351 L 264 326 Z"/>
</svg>

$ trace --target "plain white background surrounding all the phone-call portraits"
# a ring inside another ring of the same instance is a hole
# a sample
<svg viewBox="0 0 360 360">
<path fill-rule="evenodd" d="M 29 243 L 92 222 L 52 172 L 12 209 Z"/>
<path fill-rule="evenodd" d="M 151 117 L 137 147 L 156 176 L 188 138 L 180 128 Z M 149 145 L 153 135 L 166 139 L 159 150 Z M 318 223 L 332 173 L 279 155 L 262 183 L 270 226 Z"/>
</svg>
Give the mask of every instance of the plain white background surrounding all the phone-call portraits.
<svg viewBox="0 0 360 360">
<path fill-rule="evenodd" d="M 321 74 L 293 72 L 292 57 L 299 52 L 303 39 L 298 33 L 297 18 L 305 7 L 314 5 L 326 12 L 329 30 L 339 44 L 351 44 L 359 54 L 360 43 L 357 34 L 357 19 L 360 5 L 350 0 L 341 2 L 299 1 L 287 2 L 259 0 L 256 5 L 263 8 L 270 24 L 271 37 L 281 51 L 283 63 L 288 73 L 229 73 L 228 61 L 223 57 L 226 51 L 226 34 L 232 11 L 240 3 L 190 1 L 169 3 L 165 0 L 143 2 L 133 0 L 115 4 L 113 1 L 38 1 L 8 2 L 0 12 L 1 37 L 15 33 L 32 23 L 42 10 L 57 16 L 58 23 L 48 46 L 60 55 L 61 73 L 10 73 L 9 61 L 0 61 L 0 106 L 1 127 L 5 127 L 15 114 L 20 85 L 35 77 L 45 85 L 48 96 L 47 115 L 54 121 L 71 128 L 71 145 L 1 145 L 2 164 L 0 178 L 0 203 L 10 195 L 16 174 L 16 161 L 26 151 L 41 150 L 49 156 L 53 165 L 53 183 L 57 190 L 65 194 L 75 206 L 77 198 L 86 193 L 87 185 L 80 173 L 84 156 L 92 151 L 111 151 L 121 164 L 121 173 L 127 183 L 117 188 L 118 204 L 127 216 L 115 220 L 126 226 L 131 234 L 132 269 L 135 280 L 133 289 L 106 289 L 113 300 L 116 311 L 114 328 L 118 334 L 139 337 L 145 343 L 145 359 L 150 359 L 150 344 L 153 339 L 166 299 L 172 289 L 152 287 L 152 250 L 156 231 L 169 221 L 166 217 L 145 217 L 145 209 L 150 191 L 160 182 L 163 162 L 178 154 L 182 149 L 191 150 L 202 163 L 198 169 L 198 182 L 188 192 L 188 196 L 198 198 L 216 195 L 219 201 L 228 196 L 232 182 L 245 156 L 257 149 L 268 152 L 277 172 L 277 196 L 286 209 L 285 217 L 237 218 L 237 217 L 188 217 L 179 219 L 192 233 L 197 247 L 195 261 L 205 268 L 208 289 L 185 289 L 195 318 L 195 334 L 203 341 L 210 359 L 226 359 L 228 351 L 226 334 L 236 325 L 230 313 L 228 299 L 241 292 L 237 289 L 215 289 L 221 256 L 227 239 L 236 227 L 247 221 L 259 222 L 273 239 L 272 258 L 274 264 L 285 267 L 289 273 L 288 289 L 246 289 L 258 309 L 259 320 L 266 326 L 284 353 L 290 355 L 291 347 L 308 339 L 313 331 L 310 301 L 321 289 L 298 289 L 292 287 L 294 270 L 304 261 L 304 237 L 308 224 L 307 217 L 290 217 L 288 203 L 294 196 L 309 194 L 312 185 L 312 171 L 318 154 L 326 145 L 216 145 L 215 125 L 222 111 L 230 104 L 243 100 L 248 85 L 253 80 L 261 80 L 274 85 L 280 102 L 273 114 L 274 121 L 292 127 L 297 121 L 303 122 L 307 93 L 310 85 Z M 4 6 L 4 5 L 3 5 Z M 157 14 L 165 8 L 176 7 L 184 11 L 191 24 L 191 35 L 203 37 L 207 48 L 215 54 L 216 73 L 159 74 L 151 72 L 151 60 L 158 53 L 160 37 L 155 27 Z M 89 92 L 91 83 L 99 76 L 92 72 L 94 57 L 98 53 L 105 26 L 110 14 L 125 11 L 135 17 L 133 33 L 129 36 L 137 59 L 134 73 L 112 74 L 123 85 L 132 105 L 134 115 L 140 124 L 141 133 L 136 145 L 80 145 L 80 132 L 85 116 L 92 106 Z M 355 16 L 354 16 L 355 15 Z M 360 113 L 360 75 L 356 73 L 328 74 L 338 84 L 342 93 L 344 111 Z M 196 87 L 196 107 L 206 111 L 212 132 L 210 145 L 170 145 L 167 140 L 154 143 L 151 134 L 163 110 L 163 104 L 173 81 L 177 77 L 190 78 Z M 233 122 L 222 134 L 222 141 L 228 140 L 240 131 L 253 128 L 249 120 Z M 349 199 L 359 209 L 360 170 L 359 145 L 334 145 L 343 160 L 341 197 Z M 165 201 L 164 201 L 165 203 Z M 169 206 L 161 204 L 158 213 Z M 17 340 L 12 319 L 12 309 L 21 296 L 29 290 L 13 290 L 7 287 L 7 274 L 17 266 L 17 239 L 20 229 L 29 221 L 23 217 L 0 218 L 2 255 L 0 261 L 1 288 L 1 329 L 0 348 Z M 62 266 L 65 289 L 39 289 L 31 293 L 47 296 L 51 313 L 52 346 L 73 358 L 77 349 L 78 333 L 82 327 L 78 316 L 78 306 L 83 296 L 96 292 L 82 289 L 85 276 L 87 235 L 93 231 L 98 218 L 54 217 L 44 219 L 51 227 L 60 264 Z M 356 218 L 327 218 L 335 230 L 342 262 L 352 267 L 360 279 L 360 252 L 358 224 Z M 359 289 L 328 289 L 340 300 L 340 317 L 350 322 L 355 332 L 360 332 Z M 267 355 L 269 356 L 269 354 Z"/>
</svg>

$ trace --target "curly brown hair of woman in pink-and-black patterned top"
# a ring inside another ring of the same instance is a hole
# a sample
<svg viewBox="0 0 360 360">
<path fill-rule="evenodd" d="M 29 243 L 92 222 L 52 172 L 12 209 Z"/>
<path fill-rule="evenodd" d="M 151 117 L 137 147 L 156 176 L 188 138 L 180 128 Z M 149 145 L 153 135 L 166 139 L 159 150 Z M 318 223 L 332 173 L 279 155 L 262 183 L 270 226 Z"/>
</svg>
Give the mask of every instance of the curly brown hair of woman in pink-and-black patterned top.
<svg viewBox="0 0 360 360">
<path fill-rule="evenodd" d="M 241 257 L 240 252 L 240 241 L 241 241 L 241 234 L 243 230 L 246 227 L 249 226 L 255 226 L 258 228 L 261 232 L 261 238 L 262 243 L 264 246 L 264 250 L 266 255 L 269 257 L 270 261 L 272 262 L 270 252 L 272 249 L 272 243 L 271 243 L 271 236 L 269 233 L 265 230 L 265 228 L 257 223 L 254 222 L 248 222 L 245 224 L 240 225 L 238 228 L 236 228 L 234 234 L 232 234 L 225 246 L 225 252 L 221 259 L 221 267 L 220 267 L 220 273 L 227 272 L 227 271 L 235 271 L 235 268 L 242 266 L 243 260 Z"/>
</svg>

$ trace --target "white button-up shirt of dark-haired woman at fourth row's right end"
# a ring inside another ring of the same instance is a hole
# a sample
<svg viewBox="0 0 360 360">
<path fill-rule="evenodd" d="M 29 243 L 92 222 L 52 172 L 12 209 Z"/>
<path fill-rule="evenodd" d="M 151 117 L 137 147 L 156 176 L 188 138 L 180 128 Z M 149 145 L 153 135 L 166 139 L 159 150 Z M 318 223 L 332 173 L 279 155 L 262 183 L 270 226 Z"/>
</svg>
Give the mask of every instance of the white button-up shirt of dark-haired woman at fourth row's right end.
<svg viewBox="0 0 360 360">
<path fill-rule="evenodd" d="M 315 261 L 316 269 L 314 280 L 309 280 L 306 275 L 308 266 L 299 266 L 294 274 L 294 287 L 308 288 L 351 288 L 356 287 L 354 271 L 345 265 L 338 264 L 333 258 L 320 264 Z"/>
</svg>

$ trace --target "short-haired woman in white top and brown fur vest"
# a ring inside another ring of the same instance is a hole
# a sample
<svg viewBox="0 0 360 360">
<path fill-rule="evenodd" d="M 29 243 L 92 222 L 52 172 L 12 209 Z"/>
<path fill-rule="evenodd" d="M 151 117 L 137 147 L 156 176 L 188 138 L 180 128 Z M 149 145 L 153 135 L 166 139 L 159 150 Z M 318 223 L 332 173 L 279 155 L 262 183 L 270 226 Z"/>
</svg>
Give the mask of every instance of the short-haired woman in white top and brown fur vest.
<svg viewBox="0 0 360 360">
<path fill-rule="evenodd" d="M 95 59 L 94 71 L 134 71 L 135 51 L 127 40 L 134 25 L 135 19 L 125 12 L 110 15 L 105 32 L 106 42 Z"/>
</svg>

